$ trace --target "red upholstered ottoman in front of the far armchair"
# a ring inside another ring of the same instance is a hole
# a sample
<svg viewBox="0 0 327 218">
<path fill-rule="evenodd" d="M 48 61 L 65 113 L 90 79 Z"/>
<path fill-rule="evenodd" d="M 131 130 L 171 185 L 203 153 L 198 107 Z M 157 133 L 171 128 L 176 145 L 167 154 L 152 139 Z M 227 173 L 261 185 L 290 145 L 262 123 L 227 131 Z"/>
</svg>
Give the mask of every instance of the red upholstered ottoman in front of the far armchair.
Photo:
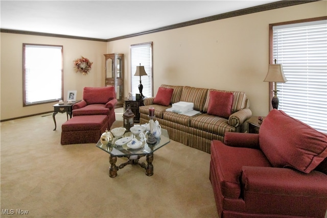
<svg viewBox="0 0 327 218">
<path fill-rule="evenodd" d="M 106 129 L 107 115 L 73 116 L 61 126 L 61 144 L 97 143 Z"/>
</svg>

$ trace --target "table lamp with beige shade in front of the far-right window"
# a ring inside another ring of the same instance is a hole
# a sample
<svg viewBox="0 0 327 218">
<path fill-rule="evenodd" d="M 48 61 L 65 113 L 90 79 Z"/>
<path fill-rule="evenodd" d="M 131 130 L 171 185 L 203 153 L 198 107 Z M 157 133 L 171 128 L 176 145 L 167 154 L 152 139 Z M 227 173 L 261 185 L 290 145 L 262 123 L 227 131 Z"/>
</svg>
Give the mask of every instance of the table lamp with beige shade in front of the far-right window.
<svg viewBox="0 0 327 218">
<path fill-rule="evenodd" d="M 282 64 L 269 64 L 268 73 L 264 82 L 273 82 L 274 83 L 274 96 L 271 99 L 272 108 L 278 109 L 279 100 L 277 98 L 277 82 L 285 83 L 287 79 L 284 75 L 283 65 Z"/>
</svg>

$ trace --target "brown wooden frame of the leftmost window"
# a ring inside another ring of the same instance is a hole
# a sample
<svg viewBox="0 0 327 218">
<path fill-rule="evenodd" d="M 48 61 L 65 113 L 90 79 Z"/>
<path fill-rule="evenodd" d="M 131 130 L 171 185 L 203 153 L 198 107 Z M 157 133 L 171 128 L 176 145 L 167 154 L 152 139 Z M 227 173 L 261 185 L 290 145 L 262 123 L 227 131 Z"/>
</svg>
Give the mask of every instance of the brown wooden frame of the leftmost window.
<svg viewBox="0 0 327 218">
<path fill-rule="evenodd" d="M 26 101 L 26 46 L 40 46 L 40 47 L 60 47 L 61 49 L 61 98 L 59 99 L 51 99 L 51 100 L 45 100 L 45 101 L 38 101 L 33 103 L 28 103 Z M 26 106 L 33 106 L 33 105 L 40 105 L 40 104 L 46 104 L 46 103 L 53 103 L 57 102 L 59 100 L 63 100 L 63 45 L 51 45 L 51 44 L 35 44 L 35 43 L 23 43 L 22 44 L 22 91 L 23 91 L 23 107 Z"/>
</svg>

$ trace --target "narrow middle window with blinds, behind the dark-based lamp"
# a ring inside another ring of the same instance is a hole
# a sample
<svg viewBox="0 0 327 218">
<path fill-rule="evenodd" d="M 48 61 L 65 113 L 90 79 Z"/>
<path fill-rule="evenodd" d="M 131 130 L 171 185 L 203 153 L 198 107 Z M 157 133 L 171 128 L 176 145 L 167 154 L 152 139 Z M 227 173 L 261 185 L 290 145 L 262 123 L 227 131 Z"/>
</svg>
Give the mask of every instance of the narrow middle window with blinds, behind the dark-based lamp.
<svg viewBox="0 0 327 218">
<path fill-rule="evenodd" d="M 139 77 L 134 76 L 136 66 L 144 66 L 147 76 L 142 76 L 143 95 L 152 96 L 152 42 L 131 45 L 131 92 L 133 95 L 139 93 Z"/>
</svg>

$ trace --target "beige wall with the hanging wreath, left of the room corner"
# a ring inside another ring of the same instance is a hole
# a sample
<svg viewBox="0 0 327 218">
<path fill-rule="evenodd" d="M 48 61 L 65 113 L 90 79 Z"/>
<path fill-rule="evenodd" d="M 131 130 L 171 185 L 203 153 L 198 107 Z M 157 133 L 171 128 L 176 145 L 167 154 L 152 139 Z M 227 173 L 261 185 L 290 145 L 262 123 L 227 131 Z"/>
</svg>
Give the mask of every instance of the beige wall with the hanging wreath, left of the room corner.
<svg viewBox="0 0 327 218">
<path fill-rule="evenodd" d="M 103 54 L 106 54 L 107 42 L 1 33 L 2 120 L 53 111 L 55 104 L 22 106 L 22 43 L 63 45 L 64 100 L 68 90 L 77 90 L 77 99 L 81 99 L 84 86 L 104 86 Z M 86 76 L 74 70 L 73 61 L 81 56 L 93 62 Z"/>
</svg>

